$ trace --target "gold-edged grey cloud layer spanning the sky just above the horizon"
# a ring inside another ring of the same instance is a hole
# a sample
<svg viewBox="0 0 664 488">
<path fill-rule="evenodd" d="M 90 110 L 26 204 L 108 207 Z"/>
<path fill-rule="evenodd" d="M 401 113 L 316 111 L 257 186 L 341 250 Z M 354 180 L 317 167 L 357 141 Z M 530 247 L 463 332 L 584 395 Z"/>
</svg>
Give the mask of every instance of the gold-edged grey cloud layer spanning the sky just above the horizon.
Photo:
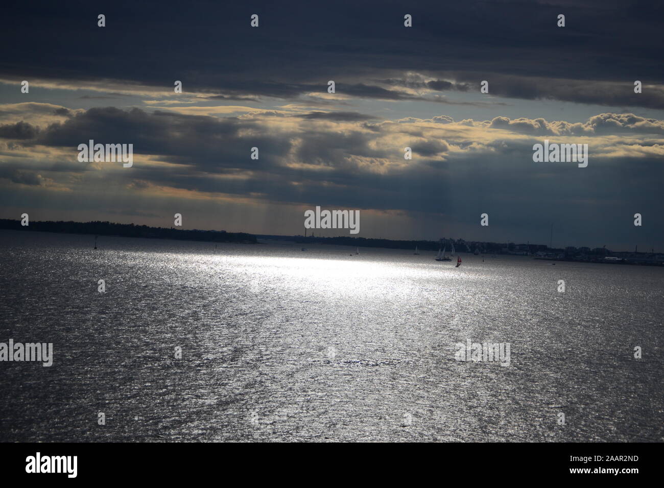
<svg viewBox="0 0 664 488">
<path fill-rule="evenodd" d="M 31 105 L 25 113 L 41 116 L 41 110 Z M 356 112 L 219 119 L 94 108 L 58 120 L 58 109 L 49 110 L 56 122 L 0 124 L 5 206 L 32 195 L 30 202 L 48 197 L 49 208 L 96 208 L 98 196 L 106 195 L 122 208 L 158 215 L 171 195 L 179 205 L 203 198 L 197 208 L 228 197 L 271 208 L 319 204 L 440 214 L 450 225 L 488 211 L 502 232 L 537 228 L 546 216 L 599 235 L 616 225 L 616 215 L 629 220 L 629 212 L 642 211 L 649 225 L 661 228 L 663 121 L 634 114 L 598 114 L 584 123 L 502 116 L 454 122 L 446 115 L 391 122 Z M 533 163 L 533 143 L 544 137 L 588 141 L 590 165 Z M 134 166 L 78 163 L 76 147 L 88 139 L 133 143 Z M 404 160 L 407 145 L 412 161 Z M 260 159 L 250 159 L 251 147 L 259 148 Z M 36 189 L 41 196 L 26 193 Z"/>
</svg>

